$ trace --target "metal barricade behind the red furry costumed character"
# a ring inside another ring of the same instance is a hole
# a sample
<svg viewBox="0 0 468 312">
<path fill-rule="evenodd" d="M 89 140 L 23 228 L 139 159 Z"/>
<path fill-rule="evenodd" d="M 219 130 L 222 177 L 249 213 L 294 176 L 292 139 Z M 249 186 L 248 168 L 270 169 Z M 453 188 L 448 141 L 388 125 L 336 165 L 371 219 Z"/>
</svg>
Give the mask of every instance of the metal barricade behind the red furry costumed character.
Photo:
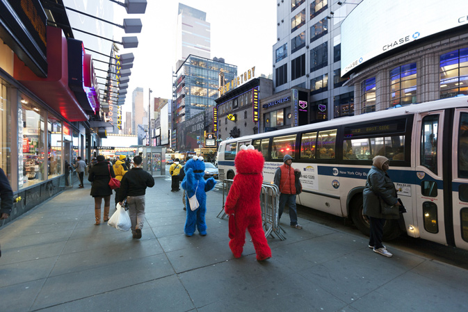
<svg viewBox="0 0 468 312">
<path fill-rule="evenodd" d="M 224 208 L 227 194 L 229 194 L 229 190 L 231 189 L 233 182 L 234 180 L 223 180 L 223 208 L 216 216 L 220 217 L 220 219 L 223 219 L 227 216 Z M 280 190 L 277 186 L 275 186 L 275 184 L 261 184 L 260 207 L 261 220 L 265 230 L 265 237 L 271 235 L 274 238 L 276 235 L 277 238 L 280 238 L 280 240 L 285 240 L 286 238 L 282 235 L 281 232 L 286 233 L 286 231 L 280 227 L 280 223 L 278 222 L 278 213 L 280 210 Z"/>
</svg>

